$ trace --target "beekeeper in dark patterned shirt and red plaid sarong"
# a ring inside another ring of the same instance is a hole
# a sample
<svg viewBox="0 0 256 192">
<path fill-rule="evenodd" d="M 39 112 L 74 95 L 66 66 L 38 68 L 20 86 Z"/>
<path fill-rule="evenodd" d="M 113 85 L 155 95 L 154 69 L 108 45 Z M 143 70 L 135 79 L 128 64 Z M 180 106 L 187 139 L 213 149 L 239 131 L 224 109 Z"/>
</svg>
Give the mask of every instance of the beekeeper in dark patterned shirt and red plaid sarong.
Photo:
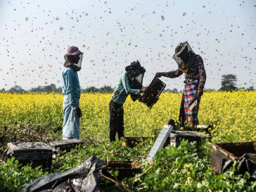
<svg viewBox="0 0 256 192">
<path fill-rule="evenodd" d="M 183 73 L 185 74 L 185 87 L 181 99 L 179 118 L 182 126 L 196 126 L 199 124 L 197 114 L 206 82 L 203 59 L 193 52 L 187 41 L 177 45 L 172 58 L 178 64 L 178 69 L 169 72 L 158 72 L 156 76 L 159 78 L 161 76 L 176 78 Z M 194 104 L 191 106 L 192 108 L 188 107 L 192 103 Z"/>
</svg>

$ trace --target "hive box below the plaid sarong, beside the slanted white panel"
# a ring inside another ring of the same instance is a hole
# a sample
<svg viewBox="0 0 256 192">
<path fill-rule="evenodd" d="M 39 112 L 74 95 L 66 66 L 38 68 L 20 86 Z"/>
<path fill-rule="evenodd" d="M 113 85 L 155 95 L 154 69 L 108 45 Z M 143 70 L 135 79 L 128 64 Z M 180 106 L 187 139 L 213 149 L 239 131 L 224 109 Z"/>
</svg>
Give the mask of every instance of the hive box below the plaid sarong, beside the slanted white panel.
<svg viewBox="0 0 256 192">
<path fill-rule="evenodd" d="M 205 139 L 211 139 L 209 135 L 202 134 L 196 131 L 175 131 L 170 133 L 170 145 L 175 147 L 180 146 L 180 142 L 182 139 L 187 140 L 188 142 L 197 142 L 197 149 L 202 144 L 202 141 Z"/>
</svg>

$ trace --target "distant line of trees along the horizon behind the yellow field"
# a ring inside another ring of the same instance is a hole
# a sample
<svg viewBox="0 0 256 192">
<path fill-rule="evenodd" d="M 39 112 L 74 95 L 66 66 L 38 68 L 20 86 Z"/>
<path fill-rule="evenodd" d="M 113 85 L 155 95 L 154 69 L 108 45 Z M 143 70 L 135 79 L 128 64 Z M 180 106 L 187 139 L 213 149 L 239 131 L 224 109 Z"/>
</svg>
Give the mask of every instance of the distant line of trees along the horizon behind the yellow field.
<svg viewBox="0 0 256 192">
<path fill-rule="evenodd" d="M 226 74 L 222 75 L 222 81 L 221 81 L 221 88 L 219 91 L 235 91 L 239 89 L 244 89 L 247 91 L 253 91 L 255 90 L 253 86 L 250 86 L 249 88 L 245 89 L 244 87 L 236 87 L 236 75 L 233 74 Z M 84 93 L 112 93 L 114 89 L 111 86 L 103 86 L 100 88 L 96 88 L 95 86 L 90 86 L 87 87 L 86 89 L 81 89 L 81 92 Z M 56 87 L 55 84 L 50 84 L 46 86 L 38 86 L 36 88 L 31 88 L 30 90 L 26 91 L 23 90 L 21 86 L 15 85 L 14 87 L 11 87 L 10 90 L 5 90 L 1 89 L 0 92 L 10 92 L 10 93 L 26 93 L 26 92 L 59 92 L 62 93 L 62 87 Z M 172 93 L 177 93 L 177 92 L 182 92 L 178 91 L 176 88 L 170 90 L 170 89 L 165 89 L 163 92 L 172 92 Z"/>
</svg>

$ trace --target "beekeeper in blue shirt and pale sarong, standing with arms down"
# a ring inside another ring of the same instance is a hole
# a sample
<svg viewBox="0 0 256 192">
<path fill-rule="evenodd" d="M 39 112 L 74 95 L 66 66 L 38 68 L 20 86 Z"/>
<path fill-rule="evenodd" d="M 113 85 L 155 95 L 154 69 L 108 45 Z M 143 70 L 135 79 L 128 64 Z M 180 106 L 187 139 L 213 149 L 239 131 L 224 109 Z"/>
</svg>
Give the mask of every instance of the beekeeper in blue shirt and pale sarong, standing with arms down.
<svg viewBox="0 0 256 192">
<path fill-rule="evenodd" d="M 63 140 L 79 139 L 80 117 L 79 107 L 80 85 L 78 71 L 81 70 L 83 53 L 75 46 L 68 48 L 64 55 L 65 63 L 62 71 L 63 99 Z"/>
</svg>

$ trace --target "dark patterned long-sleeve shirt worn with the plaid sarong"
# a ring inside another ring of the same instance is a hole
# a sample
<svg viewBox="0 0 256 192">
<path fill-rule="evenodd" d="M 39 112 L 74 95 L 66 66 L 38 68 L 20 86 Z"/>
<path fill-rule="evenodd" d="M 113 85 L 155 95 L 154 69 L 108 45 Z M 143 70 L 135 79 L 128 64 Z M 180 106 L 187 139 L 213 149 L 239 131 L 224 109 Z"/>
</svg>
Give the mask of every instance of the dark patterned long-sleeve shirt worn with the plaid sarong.
<svg viewBox="0 0 256 192">
<path fill-rule="evenodd" d="M 179 69 L 169 72 L 164 72 L 162 76 L 168 78 L 176 78 L 181 76 L 183 72 Z M 194 63 L 192 64 L 188 73 L 185 73 L 185 81 L 184 83 L 187 84 L 188 82 L 198 80 L 199 89 L 204 88 L 204 84 L 206 82 L 206 71 L 204 69 L 203 59 L 200 55 L 195 55 Z"/>
</svg>

